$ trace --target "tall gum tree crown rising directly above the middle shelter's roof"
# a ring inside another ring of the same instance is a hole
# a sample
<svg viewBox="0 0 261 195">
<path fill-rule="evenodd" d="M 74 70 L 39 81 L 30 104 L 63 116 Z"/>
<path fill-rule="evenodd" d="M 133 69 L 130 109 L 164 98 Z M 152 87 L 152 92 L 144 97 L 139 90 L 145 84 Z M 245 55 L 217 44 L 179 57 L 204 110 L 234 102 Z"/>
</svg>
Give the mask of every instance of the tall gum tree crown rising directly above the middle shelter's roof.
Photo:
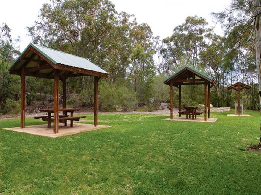
<svg viewBox="0 0 261 195">
<path fill-rule="evenodd" d="M 171 70 L 173 64 L 175 69 L 184 65 L 197 67 L 199 53 L 205 45 L 205 39 L 212 32 L 207 25 L 204 18 L 189 16 L 185 23 L 174 28 L 172 36 L 162 40 L 161 54 L 165 59 L 166 71 Z"/>
</svg>

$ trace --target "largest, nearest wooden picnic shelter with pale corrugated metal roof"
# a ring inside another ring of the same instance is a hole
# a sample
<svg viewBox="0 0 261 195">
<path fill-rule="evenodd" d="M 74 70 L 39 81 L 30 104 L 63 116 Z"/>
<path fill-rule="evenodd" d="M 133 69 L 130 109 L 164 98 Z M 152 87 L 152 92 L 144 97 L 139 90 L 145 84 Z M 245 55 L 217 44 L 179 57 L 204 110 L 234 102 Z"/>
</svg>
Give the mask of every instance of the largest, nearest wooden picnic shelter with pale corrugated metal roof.
<svg viewBox="0 0 261 195">
<path fill-rule="evenodd" d="M 30 43 L 9 68 L 9 73 L 21 77 L 21 128 L 25 127 L 26 76 L 54 79 L 53 109 L 50 111 L 54 113 L 52 119 L 54 133 L 59 131 L 59 122 L 67 125 L 66 122 L 69 120 L 72 126 L 73 120 L 79 118 L 72 115 L 71 117 L 59 117 L 59 110 L 63 113 L 70 111 L 70 109 L 66 109 L 66 79 L 77 76 L 94 76 L 94 126 L 98 125 L 98 81 L 101 77 L 108 77 L 108 73 L 89 60 Z M 63 82 L 62 109 L 59 109 L 59 80 Z M 50 120 L 48 128 L 49 122 Z"/>
</svg>

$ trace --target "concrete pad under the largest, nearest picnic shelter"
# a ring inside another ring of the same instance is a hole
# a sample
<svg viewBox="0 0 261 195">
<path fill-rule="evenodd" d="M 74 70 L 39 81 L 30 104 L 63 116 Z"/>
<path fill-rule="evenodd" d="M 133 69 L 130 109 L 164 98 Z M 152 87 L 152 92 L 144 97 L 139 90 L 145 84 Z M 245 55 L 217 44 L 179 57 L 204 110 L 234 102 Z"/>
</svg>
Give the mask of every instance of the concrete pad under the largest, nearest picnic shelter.
<svg viewBox="0 0 261 195">
<path fill-rule="evenodd" d="M 20 127 L 4 128 L 3 130 L 30 133 L 30 134 L 34 134 L 34 135 L 41 135 L 41 136 L 56 138 L 56 137 L 60 137 L 60 136 L 64 136 L 64 135 L 70 135 L 70 134 L 86 132 L 86 131 L 93 131 L 93 130 L 108 128 L 108 127 L 111 127 L 111 126 L 97 125 L 95 127 L 94 125 L 91 125 L 91 124 L 76 123 L 76 122 L 73 123 L 73 127 L 70 127 L 70 122 L 68 121 L 66 127 L 62 123 L 59 124 L 58 133 L 53 133 L 53 127 L 47 128 L 47 124 L 25 126 L 25 128 L 20 128 Z"/>
</svg>

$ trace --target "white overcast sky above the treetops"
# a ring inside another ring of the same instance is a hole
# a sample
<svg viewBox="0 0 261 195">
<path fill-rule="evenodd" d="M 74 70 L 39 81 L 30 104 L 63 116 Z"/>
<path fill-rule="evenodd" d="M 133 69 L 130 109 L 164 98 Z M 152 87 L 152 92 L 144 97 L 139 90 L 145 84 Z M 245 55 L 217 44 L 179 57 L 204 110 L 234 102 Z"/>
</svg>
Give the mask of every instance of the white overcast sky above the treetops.
<svg viewBox="0 0 261 195">
<path fill-rule="evenodd" d="M 118 12 L 134 14 L 138 23 L 150 25 L 155 36 L 161 39 L 170 36 L 175 26 L 184 23 L 187 16 L 204 17 L 214 31 L 222 35 L 223 31 L 210 15 L 229 6 L 231 0 L 112 0 Z M 31 42 L 27 37 L 26 26 L 32 26 L 37 20 L 39 10 L 47 0 L 8 0 L 0 3 L 0 24 L 3 22 L 12 29 L 13 38 L 20 36 L 20 50 Z"/>
</svg>

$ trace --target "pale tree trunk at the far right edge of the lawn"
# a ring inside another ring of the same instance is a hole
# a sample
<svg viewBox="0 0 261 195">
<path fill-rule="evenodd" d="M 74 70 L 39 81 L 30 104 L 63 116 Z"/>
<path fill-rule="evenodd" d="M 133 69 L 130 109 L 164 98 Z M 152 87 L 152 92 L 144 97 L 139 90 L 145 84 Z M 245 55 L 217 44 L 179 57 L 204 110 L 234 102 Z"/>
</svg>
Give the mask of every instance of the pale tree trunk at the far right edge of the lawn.
<svg viewBox="0 0 261 195">
<path fill-rule="evenodd" d="M 256 47 L 256 72 L 258 76 L 258 88 L 259 88 L 259 112 L 261 116 L 261 62 L 260 62 L 260 57 L 261 57 L 261 3 L 259 0 L 254 1 L 254 17 L 255 19 L 255 47 Z M 259 145 L 261 145 L 261 122 L 260 122 L 260 139 L 259 139 Z"/>
</svg>

